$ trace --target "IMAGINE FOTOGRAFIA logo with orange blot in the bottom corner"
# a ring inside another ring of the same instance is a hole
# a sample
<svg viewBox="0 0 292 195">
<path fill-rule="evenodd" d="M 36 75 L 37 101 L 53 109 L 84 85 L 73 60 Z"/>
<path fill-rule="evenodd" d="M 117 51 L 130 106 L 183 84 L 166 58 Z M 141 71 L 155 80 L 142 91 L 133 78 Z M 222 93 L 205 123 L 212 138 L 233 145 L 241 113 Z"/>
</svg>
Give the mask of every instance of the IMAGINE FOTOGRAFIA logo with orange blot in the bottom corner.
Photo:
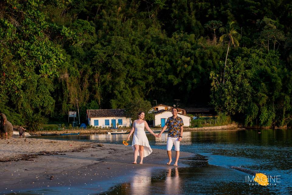
<svg viewBox="0 0 292 195">
<path fill-rule="evenodd" d="M 250 186 L 276 186 L 280 182 L 280 176 L 266 176 L 262 173 L 257 173 L 255 176 L 245 176 L 245 182 Z"/>
</svg>

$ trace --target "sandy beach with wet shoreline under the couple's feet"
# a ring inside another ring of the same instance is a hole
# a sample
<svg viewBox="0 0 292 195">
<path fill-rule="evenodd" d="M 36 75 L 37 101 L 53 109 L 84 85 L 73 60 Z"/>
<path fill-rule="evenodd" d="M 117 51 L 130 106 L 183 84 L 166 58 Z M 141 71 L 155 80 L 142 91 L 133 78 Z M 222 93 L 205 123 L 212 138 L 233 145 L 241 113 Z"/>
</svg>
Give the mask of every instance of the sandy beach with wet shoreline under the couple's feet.
<svg viewBox="0 0 292 195">
<path fill-rule="evenodd" d="M 68 190 L 87 185 L 94 186 L 89 192 L 101 193 L 110 186 L 126 182 L 134 172 L 137 175 L 137 171 L 174 167 L 165 165 L 165 150 L 154 149 L 144 158 L 143 165 L 133 165 L 132 148 L 122 144 L 24 140 L 15 137 L 0 140 L 1 194 L 56 187 Z M 180 157 L 195 158 L 198 165 L 207 163 L 204 157 L 192 153 L 181 152 Z M 179 166 L 187 166 L 182 161 L 179 163 Z"/>
</svg>

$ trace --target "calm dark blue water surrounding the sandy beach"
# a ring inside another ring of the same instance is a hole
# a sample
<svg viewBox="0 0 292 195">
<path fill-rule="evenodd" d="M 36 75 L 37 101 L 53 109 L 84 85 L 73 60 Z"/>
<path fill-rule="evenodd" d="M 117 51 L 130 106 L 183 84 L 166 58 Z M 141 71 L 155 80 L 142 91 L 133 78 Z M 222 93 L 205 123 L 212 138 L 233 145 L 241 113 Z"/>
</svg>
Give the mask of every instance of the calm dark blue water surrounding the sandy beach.
<svg viewBox="0 0 292 195">
<path fill-rule="evenodd" d="M 147 137 L 152 148 L 165 149 L 167 134 L 160 140 L 152 135 Z M 37 138 L 121 144 L 127 135 Z M 291 149 L 292 129 L 184 132 L 181 151 L 207 156 L 209 165 L 140 172 L 129 183 L 113 186 L 104 194 L 292 194 Z M 272 180 L 270 186 L 252 185 L 255 183 L 246 181 L 248 176 L 252 179 L 251 175 L 230 166 L 278 176 L 280 180 Z"/>
</svg>

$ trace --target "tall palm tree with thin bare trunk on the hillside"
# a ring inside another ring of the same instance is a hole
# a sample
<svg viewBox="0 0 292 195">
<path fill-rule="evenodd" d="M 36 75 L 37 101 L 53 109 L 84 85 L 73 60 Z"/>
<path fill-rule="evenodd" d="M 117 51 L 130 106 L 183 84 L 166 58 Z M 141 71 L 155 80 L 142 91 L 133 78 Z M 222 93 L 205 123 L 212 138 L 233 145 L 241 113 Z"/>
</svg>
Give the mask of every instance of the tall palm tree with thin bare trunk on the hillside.
<svg viewBox="0 0 292 195">
<path fill-rule="evenodd" d="M 235 21 L 229 21 L 225 28 L 220 28 L 220 32 L 221 33 L 226 32 L 226 34 L 223 34 L 220 37 L 219 41 L 221 43 L 223 43 L 224 41 L 228 41 L 228 48 L 227 48 L 227 53 L 226 53 L 226 58 L 225 58 L 224 74 L 223 74 L 223 86 L 224 86 L 226 61 L 227 61 L 229 47 L 230 47 L 230 44 L 231 46 L 234 46 L 234 47 L 239 46 L 237 39 L 240 39 L 241 35 L 235 30 Z"/>
</svg>

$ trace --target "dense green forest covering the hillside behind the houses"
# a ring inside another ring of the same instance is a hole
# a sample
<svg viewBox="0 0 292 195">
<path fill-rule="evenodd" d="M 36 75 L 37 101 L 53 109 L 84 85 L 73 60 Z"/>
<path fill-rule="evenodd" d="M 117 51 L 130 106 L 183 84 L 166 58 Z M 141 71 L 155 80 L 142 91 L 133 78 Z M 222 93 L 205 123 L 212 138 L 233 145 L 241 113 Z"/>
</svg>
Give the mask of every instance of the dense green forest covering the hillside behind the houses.
<svg viewBox="0 0 292 195">
<path fill-rule="evenodd" d="M 12 124 L 68 111 L 214 107 L 292 124 L 290 0 L 0 1 L 0 109 Z M 138 112 L 138 111 L 137 111 Z"/>
</svg>

